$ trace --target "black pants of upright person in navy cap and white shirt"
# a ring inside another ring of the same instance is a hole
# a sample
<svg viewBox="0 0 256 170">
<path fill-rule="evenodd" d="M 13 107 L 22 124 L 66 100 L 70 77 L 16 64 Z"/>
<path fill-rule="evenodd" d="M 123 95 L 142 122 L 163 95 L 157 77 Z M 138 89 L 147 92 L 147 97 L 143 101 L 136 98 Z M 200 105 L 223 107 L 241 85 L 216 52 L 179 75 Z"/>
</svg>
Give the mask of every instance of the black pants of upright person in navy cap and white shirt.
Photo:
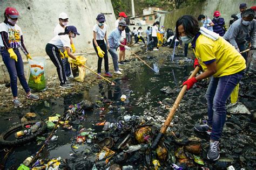
<svg viewBox="0 0 256 170">
<path fill-rule="evenodd" d="M 105 67 L 105 72 L 108 73 L 109 72 L 109 58 L 107 57 L 107 49 L 106 49 L 106 44 L 104 42 L 104 40 L 96 40 L 97 41 L 97 44 L 98 46 L 100 47 L 100 49 L 102 49 L 102 51 L 104 51 L 104 67 Z M 96 48 L 96 45 L 92 39 L 92 42 L 93 42 L 93 47 L 97 53 L 97 56 L 98 56 L 98 69 L 97 69 L 97 72 L 98 73 L 102 73 L 102 59 L 101 57 L 99 57 L 98 55 L 98 50 Z"/>
</svg>

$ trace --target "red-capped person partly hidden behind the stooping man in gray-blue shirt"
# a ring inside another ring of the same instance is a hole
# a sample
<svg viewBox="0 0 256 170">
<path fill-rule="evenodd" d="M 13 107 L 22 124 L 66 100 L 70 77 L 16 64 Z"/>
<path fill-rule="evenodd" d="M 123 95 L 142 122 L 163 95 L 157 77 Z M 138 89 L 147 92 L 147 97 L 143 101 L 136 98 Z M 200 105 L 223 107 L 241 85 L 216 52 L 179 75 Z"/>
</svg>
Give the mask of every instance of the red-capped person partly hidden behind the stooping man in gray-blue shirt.
<svg viewBox="0 0 256 170">
<path fill-rule="evenodd" d="M 119 17 L 117 18 L 116 22 L 114 23 L 114 27 L 118 27 L 118 23 L 121 21 L 121 20 L 125 20 L 125 18 L 127 18 L 125 12 L 120 12 L 119 13 Z M 122 34 L 121 34 L 121 44 L 123 45 L 126 45 L 127 42 L 126 42 L 126 33 L 125 33 L 125 30 L 122 31 Z M 120 65 L 123 65 L 124 64 L 124 61 L 125 61 L 125 48 L 123 46 L 120 46 L 120 52 L 119 52 L 119 64 Z M 127 61 L 127 60 L 126 60 Z M 119 68 L 120 70 L 122 70 L 121 68 Z"/>
</svg>

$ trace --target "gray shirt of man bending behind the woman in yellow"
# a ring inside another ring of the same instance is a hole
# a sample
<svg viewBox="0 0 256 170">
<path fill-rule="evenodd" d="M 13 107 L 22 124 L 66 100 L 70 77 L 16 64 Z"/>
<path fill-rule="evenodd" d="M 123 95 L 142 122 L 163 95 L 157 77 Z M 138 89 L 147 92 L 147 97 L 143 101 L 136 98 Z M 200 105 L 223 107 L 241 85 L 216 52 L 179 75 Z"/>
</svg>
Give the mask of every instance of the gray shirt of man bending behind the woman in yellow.
<svg viewBox="0 0 256 170">
<path fill-rule="evenodd" d="M 256 20 L 253 19 L 248 26 L 242 25 L 242 19 L 236 20 L 224 35 L 224 39 L 230 41 L 235 48 L 238 48 L 237 44 L 245 42 L 246 36 L 249 34 L 252 47 L 255 47 L 256 41 Z"/>
</svg>

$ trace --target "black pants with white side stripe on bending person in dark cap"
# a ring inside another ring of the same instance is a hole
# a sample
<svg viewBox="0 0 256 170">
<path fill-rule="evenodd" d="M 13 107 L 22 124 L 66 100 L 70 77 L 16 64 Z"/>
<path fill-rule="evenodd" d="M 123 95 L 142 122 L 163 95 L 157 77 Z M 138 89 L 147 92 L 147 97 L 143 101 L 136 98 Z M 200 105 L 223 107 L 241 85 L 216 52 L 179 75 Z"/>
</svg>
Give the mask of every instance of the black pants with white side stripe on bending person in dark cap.
<svg viewBox="0 0 256 170">
<path fill-rule="evenodd" d="M 59 49 L 55 45 L 46 44 L 45 51 L 46 54 L 49 55 L 53 65 L 57 68 L 60 84 L 64 84 L 66 82 L 66 76 L 64 73 L 62 59 L 59 55 Z"/>
</svg>

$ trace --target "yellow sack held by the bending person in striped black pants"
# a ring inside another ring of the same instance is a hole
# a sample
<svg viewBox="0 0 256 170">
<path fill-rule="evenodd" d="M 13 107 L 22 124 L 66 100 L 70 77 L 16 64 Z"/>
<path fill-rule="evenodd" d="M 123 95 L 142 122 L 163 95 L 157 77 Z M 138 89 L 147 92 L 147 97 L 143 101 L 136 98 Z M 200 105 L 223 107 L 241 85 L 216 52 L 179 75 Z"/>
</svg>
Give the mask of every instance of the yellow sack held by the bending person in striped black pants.
<svg viewBox="0 0 256 170">
<path fill-rule="evenodd" d="M 77 58 L 85 65 L 87 59 L 84 56 L 77 56 Z M 74 80 L 79 81 L 79 82 L 84 82 L 84 77 L 85 77 L 85 67 L 82 66 L 77 66 L 76 60 L 72 59 L 69 57 L 69 63 L 70 63 L 70 68 L 72 71 L 72 74 L 74 76 Z"/>
</svg>

